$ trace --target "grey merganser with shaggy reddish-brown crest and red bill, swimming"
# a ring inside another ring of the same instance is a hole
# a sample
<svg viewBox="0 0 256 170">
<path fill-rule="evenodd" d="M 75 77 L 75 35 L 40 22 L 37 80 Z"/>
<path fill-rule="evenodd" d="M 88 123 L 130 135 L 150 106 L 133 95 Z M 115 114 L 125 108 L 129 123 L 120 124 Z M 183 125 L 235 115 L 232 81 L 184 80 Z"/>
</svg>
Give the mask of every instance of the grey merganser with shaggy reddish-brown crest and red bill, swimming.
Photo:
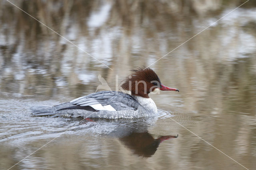
<svg viewBox="0 0 256 170">
<path fill-rule="evenodd" d="M 54 107 L 32 109 L 33 115 L 105 119 L 149 117 L 157 113 L 149 93 L 159 90 L 179 92 L 163 85 L 150 68 L 132 70 L 132 74 L 122 81 L 121 90 L 99 91 Z"/>
</svg>

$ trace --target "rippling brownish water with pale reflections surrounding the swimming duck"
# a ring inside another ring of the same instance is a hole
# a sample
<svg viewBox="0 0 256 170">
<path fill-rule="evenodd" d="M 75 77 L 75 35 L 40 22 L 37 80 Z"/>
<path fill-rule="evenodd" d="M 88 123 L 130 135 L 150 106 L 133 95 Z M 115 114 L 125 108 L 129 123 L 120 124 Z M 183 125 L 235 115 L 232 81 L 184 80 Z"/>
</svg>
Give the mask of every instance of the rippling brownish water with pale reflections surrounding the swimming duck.
<svg viewBox="0 0 256 170">
<path fill-rule="evenodd" d="M 0 2 L 1 169 L 51 140 L 12 169 L 256 167 L 253 1 L 180 47 L 240 2 L 14 3 L 103 64 L 9 2 Z M 143 65 L 151 65 L 164 85 L 180 90 L 151 96 L 159 108 L 154 118 L 83 120 L 33 117 L 29 111 L 97 87 L 115 90 L 130 69 Z M 99 86 L 98 74 L 107 87 Z"/>
</svg>

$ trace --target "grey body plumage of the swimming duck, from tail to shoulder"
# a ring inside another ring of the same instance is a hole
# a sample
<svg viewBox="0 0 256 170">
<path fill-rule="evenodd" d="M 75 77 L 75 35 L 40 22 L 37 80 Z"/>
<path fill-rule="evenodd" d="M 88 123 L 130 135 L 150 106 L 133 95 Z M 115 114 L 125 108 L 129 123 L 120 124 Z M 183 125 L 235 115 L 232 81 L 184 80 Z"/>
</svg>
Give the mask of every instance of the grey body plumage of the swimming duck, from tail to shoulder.
<svg viewBox="0 0 256 170">
<path fill-rule="evenodd" d="M 98 111 L 91 107 L 91 105 L 101 104 L 103 107 L 111 105 L 116 111 Z M 140 104 L 134 97 L 126 93 L 117 91 L 99 91 L 91 93 L 87 96 L 79 97 L 68 103 L 56 105 L 54 107 L 41 107 L 32 109 L 33 115 L 46 116 L 71 116 L 71 117 L 85 117 L 94 113 L 90 117 L 102 117 L 102 118 L 117 118 L 118 111 L 127 111 L 131 117 L 134 117 L 134 111 L 141 108 Z M 120 114 L 120 113 L 118 113 Z M 124 114 L 124 113 L 123 113 Z M 115 116 L 116 115 L 116 116 Z M 129 115 L 122 115 L 120 117 L 128 118 Z M 133 115 L 133 116 L 132 116 Z"/>
</svg>

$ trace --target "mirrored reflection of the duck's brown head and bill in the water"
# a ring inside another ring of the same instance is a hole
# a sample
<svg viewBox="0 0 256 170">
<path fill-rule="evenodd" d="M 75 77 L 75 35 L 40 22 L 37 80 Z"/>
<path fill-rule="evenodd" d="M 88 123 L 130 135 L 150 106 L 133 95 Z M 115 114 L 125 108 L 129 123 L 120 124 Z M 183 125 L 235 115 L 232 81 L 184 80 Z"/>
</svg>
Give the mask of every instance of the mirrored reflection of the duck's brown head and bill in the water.
<svg viewBox="0 0 256 170">
<path fill-rule="evenodd" d="M 92 121 L 87 120 L 87 121 Z M 95 121 L 95 119 L 93 120 Z M 150 157 L 155 154 L 159 144 L 164 140 L 177 138 L 177 136 L 158 136 L 154 138 L 154 134 L 148 132 L 148 127 L 154 124 L 156 120 L 136 120 L 136 121 L 109 121 L 115 128 L 108 134 L 114 138 L 118 138 L 124 146 L 132 150 L 138 156 Z M 106 123 L 106 120 L 105 120 Z"/>
</svg>

